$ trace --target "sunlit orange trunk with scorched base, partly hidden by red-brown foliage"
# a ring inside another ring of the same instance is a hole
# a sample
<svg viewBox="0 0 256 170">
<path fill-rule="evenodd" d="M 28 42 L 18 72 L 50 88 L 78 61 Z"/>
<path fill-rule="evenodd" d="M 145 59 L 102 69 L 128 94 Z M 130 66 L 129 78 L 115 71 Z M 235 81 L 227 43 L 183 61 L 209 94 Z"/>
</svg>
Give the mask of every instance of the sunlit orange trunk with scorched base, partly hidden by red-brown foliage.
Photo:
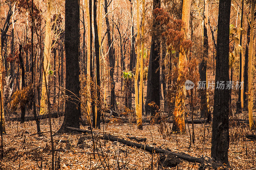
<svg viewBox="0 0 256 170">
<path fill-rule="evenodd" d="M 182 5 L 182 21 L 184 22 L 184 36 L 188 33 L 189 29 L 189 18 L 190 18 L 191 0 L 183 0 Z M 179 77 L 178 82 L 181 78 L 180 70 L 184 69 L 184 62 L 186 61 L 186 54 L 183 47 L 180 47 L 180 58 L 179 58 Z M 178 92 L 175 99 L 175 108 L 173 116 L 173 127 L 172 131 L 184 133 L 185 132 L 185 110 L 184 110 L 184 92 L 185 87 L 181 85 L 178 87 Z"/>
</svg>

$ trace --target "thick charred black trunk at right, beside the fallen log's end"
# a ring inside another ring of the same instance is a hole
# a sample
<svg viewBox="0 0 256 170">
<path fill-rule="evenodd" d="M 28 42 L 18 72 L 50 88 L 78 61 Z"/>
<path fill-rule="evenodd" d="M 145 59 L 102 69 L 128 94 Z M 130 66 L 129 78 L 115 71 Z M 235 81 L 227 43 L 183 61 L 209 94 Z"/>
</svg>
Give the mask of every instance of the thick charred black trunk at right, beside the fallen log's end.
<svg viewBox="0 0 256 170">
<path fill-rule="evenodd" d="M 211 156 L 217 162 L 228 163 L 228 113 L 229 113 L 229 89 L 217 88 L 217 82 L 229 81 L 229 21 L 231 0 L 220 0 L 216 54 L 216 77 L 214 90 L 214 106 L 212 120 L 212 151 Z"/>
</svg>

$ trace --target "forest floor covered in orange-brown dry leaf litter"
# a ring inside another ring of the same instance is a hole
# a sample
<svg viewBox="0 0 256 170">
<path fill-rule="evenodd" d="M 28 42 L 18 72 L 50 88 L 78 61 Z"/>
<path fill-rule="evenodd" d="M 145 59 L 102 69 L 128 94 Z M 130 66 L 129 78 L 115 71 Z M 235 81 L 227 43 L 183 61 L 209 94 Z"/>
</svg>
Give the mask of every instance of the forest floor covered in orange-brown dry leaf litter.
<svg viewBox="0 0 256 170">
<path fill-rule="evenodd" d="M 41 131 L 49 130 L 48 119 L 41 121 Z M 58 130 L 61 124 L 59 119 L 52 118 L 52 129 Z M 147 138 L 147 144 L 153 147 L 169 148 L 172 152 L 184 152 L 194 157 L 211 156 L 211 124 L 195 124 L 195 143 L 190 145 L 190 133 L 192 125 L 186 124 L 186 133 L 170 134 L 172 124 L 167 123 L 164 133 L 159 132 L 161 125 L 144 125 L 143 130 L 138 130 L 135 124 L 109 122 L 104 128 L 112 135 L 125 140 L 127 137 Z M 188 130 L 189 126 L 189 130 Z M 88 127 L 80 126 L 81 129 Z M 101 127 L 103 129 L 103 126 Z M 168 131 L 168 132 L 167 132 Z M 50 133 L 42 136 L 32 135 L 36 133 L 35 122 L 6 122 L 7 135 L 3 136 L 4 159 L 0 162 L 0 169 L 50 169 L 51 167 L 51 138 Z M 115 134 L 114 134 L 115 133 Z M 231 169 L 251 169 L 256 167 L 256 142 L 248 141 L 244 134 L 249 134 L 248 125 L 230 123 L 230 143 L 228 159 Z M 118 134 L 118 135 L 117 135 Z M 166 135 L 166 136 L 163 136 Z M 80 138 L 84 143 L 78 145 Z M 61 141 L 60 141 L 61 140 Z M 69 141 L 68 141 L 69 140 Z M 142 149 L 126 146 L 122 143 L 111 142 L 96 137 L 99 153 L 93 158 L 93 144 L 90 134 L 62 134 L 54 136 L 55 149 L 67 151 L 55 152 L 55 163 L 59 160 L 60 169 L 157 169 L 159 154 L 152 154 Z M 64 141 L 64 143 L 63 143 Z M 136 142 L 136 141 L 133 141 Z M 101 148 L 100 148 L 101 146 Z M 58 153 L 58 154 L 56 154 Z M 60 158 L 58 159 L 60 154 Z M 102 156 L 102 154 L 104 156 Z M 180 159 L 181 160 L 181 159 Z M 119 164 L 117 164 L 117 161 Z M 153 167 L 151 167 L 153 162 Z M 102 165 L 103 163 L 103 165 Z M 57 163 L 58 165 L 58 163 Z M 125 166 L 125 167 L 123 167 Z M 198 169 L 200 165 L 181 160 L 176 167 L 166 169 Z M 123 167 L 123 168 L 122 168 Z"/>
</svg>

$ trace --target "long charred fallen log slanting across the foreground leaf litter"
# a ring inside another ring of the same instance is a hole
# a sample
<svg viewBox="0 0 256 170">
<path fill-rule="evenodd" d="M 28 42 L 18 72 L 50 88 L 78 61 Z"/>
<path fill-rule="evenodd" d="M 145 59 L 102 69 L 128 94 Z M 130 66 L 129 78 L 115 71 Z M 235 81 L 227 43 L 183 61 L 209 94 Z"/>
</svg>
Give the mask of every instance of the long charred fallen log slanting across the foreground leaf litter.
<svg viewBox="0 0 256 170">
<path fill-rule="evenodd" d="M 71 130 L 74 130 L 74 131 L 78 131 L 78 132 L 91 133 L 90 130 L 77 129 L 77 128 L 72 128 L 72 127 L 67 127 L 67 128 L 71 129 Z M 96 135 L 96 132 L 92 132 L 92 133 Z M 190 156 L 188 154 L 171 152 L 171 151 L 167 151 L 167 150 L 164 150 L 164 149 L 161 149 L 161 148 L 154 148 L 152 146 L 148 146 L 148 145 L 144 145 L 144 144 L 138 144 L 138 143 L 135 143 L 135 142 L 131 142 L 131 141 L 127 141 L 127 140 L 124 140 L 124 139 L 114 137 L 114 136 L 109 135 L 109 134 L 106 134 L 106 135 L 102 136 L 101 138 L 105 139 L 105 140 L 110 140 L 112 142 L 120 142 L 120 143 L 123 143 L 127 146 L 136 147 L 138 149 L 142 149 L 142 150 L 148 151 L 150 153 L 162 153 L 162 154 L 175 155 L 177 158 L 186 160 L 188 162 L 196 162 L 196 163 L 202 163 L 203 162 L 202 158 L 196 158 L 196 157 Z"/>
</svg>

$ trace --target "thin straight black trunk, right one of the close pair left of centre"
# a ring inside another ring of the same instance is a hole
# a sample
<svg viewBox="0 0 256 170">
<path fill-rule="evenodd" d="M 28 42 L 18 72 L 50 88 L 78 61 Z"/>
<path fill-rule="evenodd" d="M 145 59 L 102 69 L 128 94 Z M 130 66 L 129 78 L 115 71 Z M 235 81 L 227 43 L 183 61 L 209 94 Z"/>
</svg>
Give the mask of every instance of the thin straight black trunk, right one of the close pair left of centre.
<svg viewBox="0 0 256 170">
<path fill-rule="evenodd" d="M 100 129 L 100 115 L 101 115 L 101 105 L 100 105 L 100 44 L 98 36 L 98 26 L 97 26 L 97 0 L 93 2 L 93 23 L 94 23 L 94 47 L 96 56 L 96 81 L 97 81 L 97 116 L 96 118 L 96 128 Z M 95 122 L 95 120 L 94 120 Z M 95 124 L 95 123 L 94 123 Z M 94 126 L 95 127 L 95 126 Z"/>
</svg>

